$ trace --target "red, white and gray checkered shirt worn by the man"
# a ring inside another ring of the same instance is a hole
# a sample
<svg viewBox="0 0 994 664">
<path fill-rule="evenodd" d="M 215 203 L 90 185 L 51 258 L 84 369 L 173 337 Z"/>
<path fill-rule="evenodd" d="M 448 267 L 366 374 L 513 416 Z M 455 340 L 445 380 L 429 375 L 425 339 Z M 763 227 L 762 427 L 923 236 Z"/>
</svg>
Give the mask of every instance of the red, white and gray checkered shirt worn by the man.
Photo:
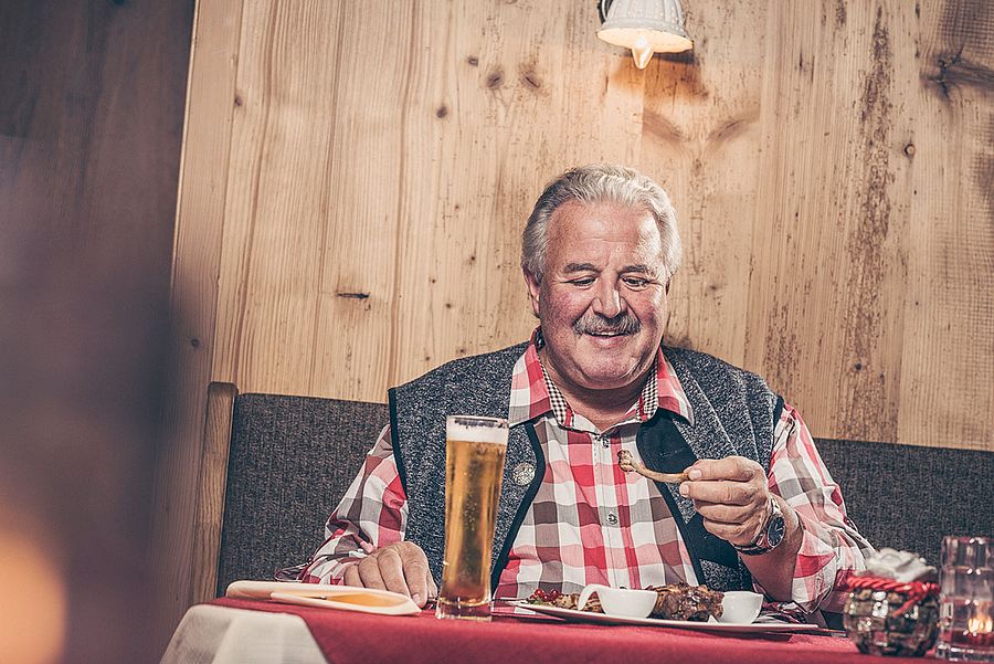
<svg viewBox="0 0 994 664">
<path fill-rule="evenodd" d="M 495 597 L 528 597 L 539 587 L 578 592 L 588 583 L 627 588 L 698 583 L 690 554 L 656 484 L 624 473 L 616 463 L 620 450 L 641 461 L 635 436 L 658 408 L 694 421 L 662 349 L 638 401 L 617 424 L 601 432 L 565 402 L 544 372 L 532 339 L 514 368 L 508 421 L 511 426 L 533 422 L 546 474 Z M 863 569 L 864 550 L 871 548 L 846 517 L 839 488 L 791 407 L 784 407 L 773 435 L 770 489 L 794 508 L 803 528 L 793 602 L 804 612 L 818 608 L 838 612 L 845 599 L 842 582 Z M 406 519 L 406 496 L 387 426 L 328 519 L 328 538 L 300 579 L 339 581 L 346 566 L 402 540 Z"/>
</svg>

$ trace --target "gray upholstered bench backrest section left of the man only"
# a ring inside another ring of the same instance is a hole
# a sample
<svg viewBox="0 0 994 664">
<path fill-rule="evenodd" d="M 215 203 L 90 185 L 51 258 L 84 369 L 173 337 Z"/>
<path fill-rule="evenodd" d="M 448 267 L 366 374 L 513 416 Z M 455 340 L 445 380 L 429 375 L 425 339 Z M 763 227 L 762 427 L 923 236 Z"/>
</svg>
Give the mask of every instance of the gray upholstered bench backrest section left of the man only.
<svg viewBox="0 0 994 664">
<path fill-rule="evenodd" d="M 387 405 L 241 394 L 232 417 L 218 594 L 305 562 L 389 422 Z"/>
</svg>

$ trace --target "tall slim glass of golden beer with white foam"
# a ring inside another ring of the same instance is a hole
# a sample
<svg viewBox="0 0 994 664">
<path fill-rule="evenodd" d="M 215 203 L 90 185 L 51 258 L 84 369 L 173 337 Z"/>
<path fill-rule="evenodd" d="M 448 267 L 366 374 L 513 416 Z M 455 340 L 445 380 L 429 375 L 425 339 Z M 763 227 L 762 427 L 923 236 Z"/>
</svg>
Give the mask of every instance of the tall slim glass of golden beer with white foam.
<svg viewBox="0 0 994 664">
<path fill-rule="evenodd" d="M 445 560 L 435 616 L 490 620 L 490 550 L 507 420 L 450 415 L 445 435 Z"/>
</svg>

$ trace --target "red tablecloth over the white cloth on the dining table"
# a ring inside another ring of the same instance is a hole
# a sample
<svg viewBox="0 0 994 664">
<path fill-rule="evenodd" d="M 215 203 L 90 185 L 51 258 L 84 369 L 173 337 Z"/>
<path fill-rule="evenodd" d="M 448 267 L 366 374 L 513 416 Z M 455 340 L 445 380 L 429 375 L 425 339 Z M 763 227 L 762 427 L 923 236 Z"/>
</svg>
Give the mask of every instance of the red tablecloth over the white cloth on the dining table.
<svg viewBox="0 0 994 664">
<path fill-rule="evenodd" d="M 921 662 L 907 657 L 873 657 L 848 640 L 811 634 L 719 634 L 713 632 L 568 623 L 558 619 L 495 616 L 491 622 L 435 620 L 420 615 L 383 616 L 295 607 L 253 600 L 219 599 L 236 609 L 299 615 L 331 664 L 357 662 L 529 662 L 582 664 L 651 662 L 664 664 Z"/>
</svg>

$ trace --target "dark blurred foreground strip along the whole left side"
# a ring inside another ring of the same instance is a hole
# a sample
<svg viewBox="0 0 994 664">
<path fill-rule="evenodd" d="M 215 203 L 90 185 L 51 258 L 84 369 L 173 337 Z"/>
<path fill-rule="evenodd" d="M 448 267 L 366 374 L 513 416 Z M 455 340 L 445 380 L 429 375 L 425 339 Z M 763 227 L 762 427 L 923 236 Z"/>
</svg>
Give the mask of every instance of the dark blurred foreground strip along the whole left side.
<svg viewBox="0 0 994 664">
<path fill-rule="evenodd" d="M 191 18 L 0 3 L 4 664 L 161 652 L 149 506 Z"/>
</svg>

